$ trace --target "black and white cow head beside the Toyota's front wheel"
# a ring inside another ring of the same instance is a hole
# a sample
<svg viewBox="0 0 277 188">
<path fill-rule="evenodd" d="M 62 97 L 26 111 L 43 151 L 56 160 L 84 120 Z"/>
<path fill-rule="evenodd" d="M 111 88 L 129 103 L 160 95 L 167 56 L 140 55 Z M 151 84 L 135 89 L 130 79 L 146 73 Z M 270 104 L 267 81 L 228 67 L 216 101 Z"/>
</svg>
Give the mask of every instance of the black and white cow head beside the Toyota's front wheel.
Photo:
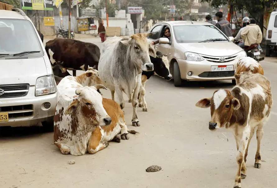
<svg viewBox="0 0 277 188">
<path fill-rule="evenodd" d="M 162 53 L 157 52 L 157 57 L 150 57 L 151 62 L 154 64 L 155 74 L 164 78 L 165 80 L 171 80 L 172 76 L 169 72 L 169 61 Z"/>
</svg>

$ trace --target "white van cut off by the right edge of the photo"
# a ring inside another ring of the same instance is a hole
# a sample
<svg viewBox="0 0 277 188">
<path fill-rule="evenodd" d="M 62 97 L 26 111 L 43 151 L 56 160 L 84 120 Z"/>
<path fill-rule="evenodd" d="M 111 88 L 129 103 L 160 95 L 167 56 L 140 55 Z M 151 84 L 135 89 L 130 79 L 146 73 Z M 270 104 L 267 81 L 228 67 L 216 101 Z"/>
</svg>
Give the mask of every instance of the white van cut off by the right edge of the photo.
<svg viewBox="0 0 277 188">
<path fill-rule="evenodd" d="M 274 10 L 270 14 L 267 31 L 266 31 L 266 49 L 265 56 L 270 56 L 272 50 L 277 49 L 277 11 Z"/>
</svg>

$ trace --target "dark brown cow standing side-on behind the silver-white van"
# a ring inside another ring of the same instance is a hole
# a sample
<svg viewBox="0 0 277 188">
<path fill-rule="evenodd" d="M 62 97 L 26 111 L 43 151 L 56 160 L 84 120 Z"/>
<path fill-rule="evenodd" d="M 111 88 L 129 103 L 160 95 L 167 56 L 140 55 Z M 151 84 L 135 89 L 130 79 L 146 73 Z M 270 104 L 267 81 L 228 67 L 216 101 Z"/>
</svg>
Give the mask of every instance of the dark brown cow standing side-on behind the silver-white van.
<svg viewBox="0 0 277 188">
<path fill-rule="evenodd" d="M 88 66 L 98 69 L 100 49 L 95 44 L 73 39 L 54 39 L 46 43 L 45 50 L 52 64 L 62 64 L 69 70 L 87 71 Z M 76 71 L 73 71 L 73 76 L 76 76 Z"/>
</svg>

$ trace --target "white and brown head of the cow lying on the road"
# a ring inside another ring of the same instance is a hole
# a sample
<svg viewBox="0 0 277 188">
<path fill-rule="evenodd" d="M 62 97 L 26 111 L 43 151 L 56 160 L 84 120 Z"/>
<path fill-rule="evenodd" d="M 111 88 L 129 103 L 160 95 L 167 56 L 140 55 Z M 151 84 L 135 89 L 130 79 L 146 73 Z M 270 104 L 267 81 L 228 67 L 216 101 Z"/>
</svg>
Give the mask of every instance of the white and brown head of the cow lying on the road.
<svg viewBox="0 0 277 188">
<path fill-rule="evenodd" d="M 85 86 L 76 89 L 77 97 L 66 109 L 65 114 L 70 114 L 74 119 L 78 119 L 78 125 L 85 126 L 87 131 L 92 131 L 95 126 L 104 126 L 111 123 L 102 104 L 102 96 L 96 91 L 106 87 L 104 85 Z"/>
</svg>

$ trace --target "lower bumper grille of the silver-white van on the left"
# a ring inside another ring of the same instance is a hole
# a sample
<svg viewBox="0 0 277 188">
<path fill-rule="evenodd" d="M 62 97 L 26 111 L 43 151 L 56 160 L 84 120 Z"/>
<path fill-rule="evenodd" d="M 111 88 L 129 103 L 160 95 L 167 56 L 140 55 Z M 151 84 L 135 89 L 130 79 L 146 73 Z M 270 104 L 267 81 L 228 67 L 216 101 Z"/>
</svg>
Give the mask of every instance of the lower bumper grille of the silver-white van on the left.
<svg viewBox="0 0 277 188">
<path fill-rule="evenodd" d="M 17 106 L 2 106 L 0 112 L 8 112 L 9 120 L 13 120 L 20 117 L 31 117 L 34 114 L 34 108 L 32 104 L 17 105 Z"/>
</svg>

